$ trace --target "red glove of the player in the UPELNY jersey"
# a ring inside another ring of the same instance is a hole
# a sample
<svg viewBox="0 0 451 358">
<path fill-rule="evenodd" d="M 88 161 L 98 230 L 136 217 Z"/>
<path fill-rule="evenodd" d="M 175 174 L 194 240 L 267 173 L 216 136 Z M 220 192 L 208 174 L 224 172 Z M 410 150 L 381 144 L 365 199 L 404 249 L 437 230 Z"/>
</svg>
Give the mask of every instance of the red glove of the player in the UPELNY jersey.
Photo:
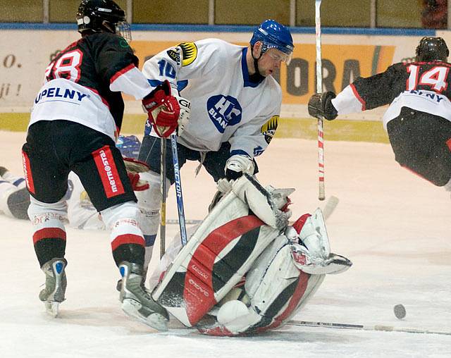
<svg viewBox="0 0 451 358">
<path fill-rule="evenodd" d="M 142 99 L 150 123 L 159 137 L 167 138 L 177 129 L 180 117 L 180 105 L 171 94 L 168 80 L 157 86 Z"/>
</svg>

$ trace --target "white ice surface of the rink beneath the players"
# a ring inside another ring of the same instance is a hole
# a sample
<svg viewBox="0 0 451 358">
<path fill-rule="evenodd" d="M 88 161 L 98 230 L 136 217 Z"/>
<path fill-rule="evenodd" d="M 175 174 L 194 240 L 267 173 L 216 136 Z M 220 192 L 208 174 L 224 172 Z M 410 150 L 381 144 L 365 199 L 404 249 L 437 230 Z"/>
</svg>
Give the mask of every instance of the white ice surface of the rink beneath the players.
<svg viewBox="0 0 451 358">
<path fill-rule="evenodd" d="M 20 173 L 24 140 L 24 133 L 0 132 L 0 165 Z M 340 198 L 328 220 L 330 245 L 354 266 L 328 276 L 296 319 L 451 332 L 450 193 L 400 168 L 386 144 L 328 142 L 326 133 L 325 155 L 326 197 Z M 293 218 L 323 205 L 316 157 L 314 141 L 275 139 L 258 159 L 261 183 L 296 188 Z M 204 170 L 194 178 L 195 166 L 181 171 L 190 219 L 206 215 L 215 191 Z M 177 218 L 173 190 L 167 207 L 168 218 Z M 176 323 L 156 333 L 119 307 L 109 235 L 70 228 L 66 302 L 51 319 L 37 298 L 44 274 L 30 223 L 0 216 L 0 228 L 2 358 L 451 357 L 451 335 L 285 326 L 253 338 L 212 338 Z M 168 226 L 168 237 L 177 229 Z M 393 314 L 398 303 L 407 310 L 403 320 Z"/>
</svg>

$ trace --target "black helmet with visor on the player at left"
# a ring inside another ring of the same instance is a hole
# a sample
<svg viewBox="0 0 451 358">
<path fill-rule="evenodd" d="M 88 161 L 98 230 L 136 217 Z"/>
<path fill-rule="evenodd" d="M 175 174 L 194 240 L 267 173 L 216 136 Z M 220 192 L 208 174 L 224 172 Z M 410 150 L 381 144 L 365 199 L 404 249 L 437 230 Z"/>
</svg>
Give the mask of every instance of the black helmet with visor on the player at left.
<svg viewBox="0 0 451 358">
<path fill-rule="evenodd" d="M 77 12 L 78 32 L 111 32 L 130 41 L 125 12 L 112 0 L 82 0 Z"/>
</svg>

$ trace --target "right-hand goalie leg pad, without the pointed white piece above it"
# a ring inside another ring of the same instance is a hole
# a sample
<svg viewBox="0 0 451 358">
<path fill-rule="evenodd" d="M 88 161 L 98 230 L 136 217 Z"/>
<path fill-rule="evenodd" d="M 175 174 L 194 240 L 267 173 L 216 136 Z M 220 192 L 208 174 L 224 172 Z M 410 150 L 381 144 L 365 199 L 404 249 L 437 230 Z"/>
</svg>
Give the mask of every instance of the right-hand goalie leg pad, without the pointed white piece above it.
<svg viewBox="0 0 451 358">
<path fill-rule="evenodd" d="M 297 314 L 323 278 L 324 275 L 299 271 L 292 260 L 288 238 L 280 235 L 247 274 L 247 296 L 243 300 L 250 301 L 247 312 L 227 302 L 219 309 L 215 324 L 198 329 L 208 335 L 249 335 L 277 328 Z M 226 314 L 230 319 L 223 318 Z"/>
</svg>

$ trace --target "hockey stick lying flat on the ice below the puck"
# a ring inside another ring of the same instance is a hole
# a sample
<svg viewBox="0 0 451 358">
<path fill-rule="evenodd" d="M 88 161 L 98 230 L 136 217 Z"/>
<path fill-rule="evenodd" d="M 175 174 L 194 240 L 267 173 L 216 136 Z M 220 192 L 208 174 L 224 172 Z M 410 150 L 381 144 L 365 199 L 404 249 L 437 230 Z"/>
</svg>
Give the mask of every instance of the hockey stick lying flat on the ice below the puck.
<svg viewBox="0 0 451 358">
<path fill-rule="evenodd" d="M 326 327 L 326 328 L 342 328 L 355 329 L 360 331 L 385 331 L 385 332 L 404 332 L 404 333 L 428 333 L 451 335 L 451 331 L 432 331 L 427 329 L 417 328 L 399 328 L 394 326 L 364 326 L 362 324 L 347 324 L 347 323 L 331 323 L 331 322 L 309 322 L 292 320 L 287 323 L 288 326 L 306 326 L 306 327 Z"/>
</svg>

